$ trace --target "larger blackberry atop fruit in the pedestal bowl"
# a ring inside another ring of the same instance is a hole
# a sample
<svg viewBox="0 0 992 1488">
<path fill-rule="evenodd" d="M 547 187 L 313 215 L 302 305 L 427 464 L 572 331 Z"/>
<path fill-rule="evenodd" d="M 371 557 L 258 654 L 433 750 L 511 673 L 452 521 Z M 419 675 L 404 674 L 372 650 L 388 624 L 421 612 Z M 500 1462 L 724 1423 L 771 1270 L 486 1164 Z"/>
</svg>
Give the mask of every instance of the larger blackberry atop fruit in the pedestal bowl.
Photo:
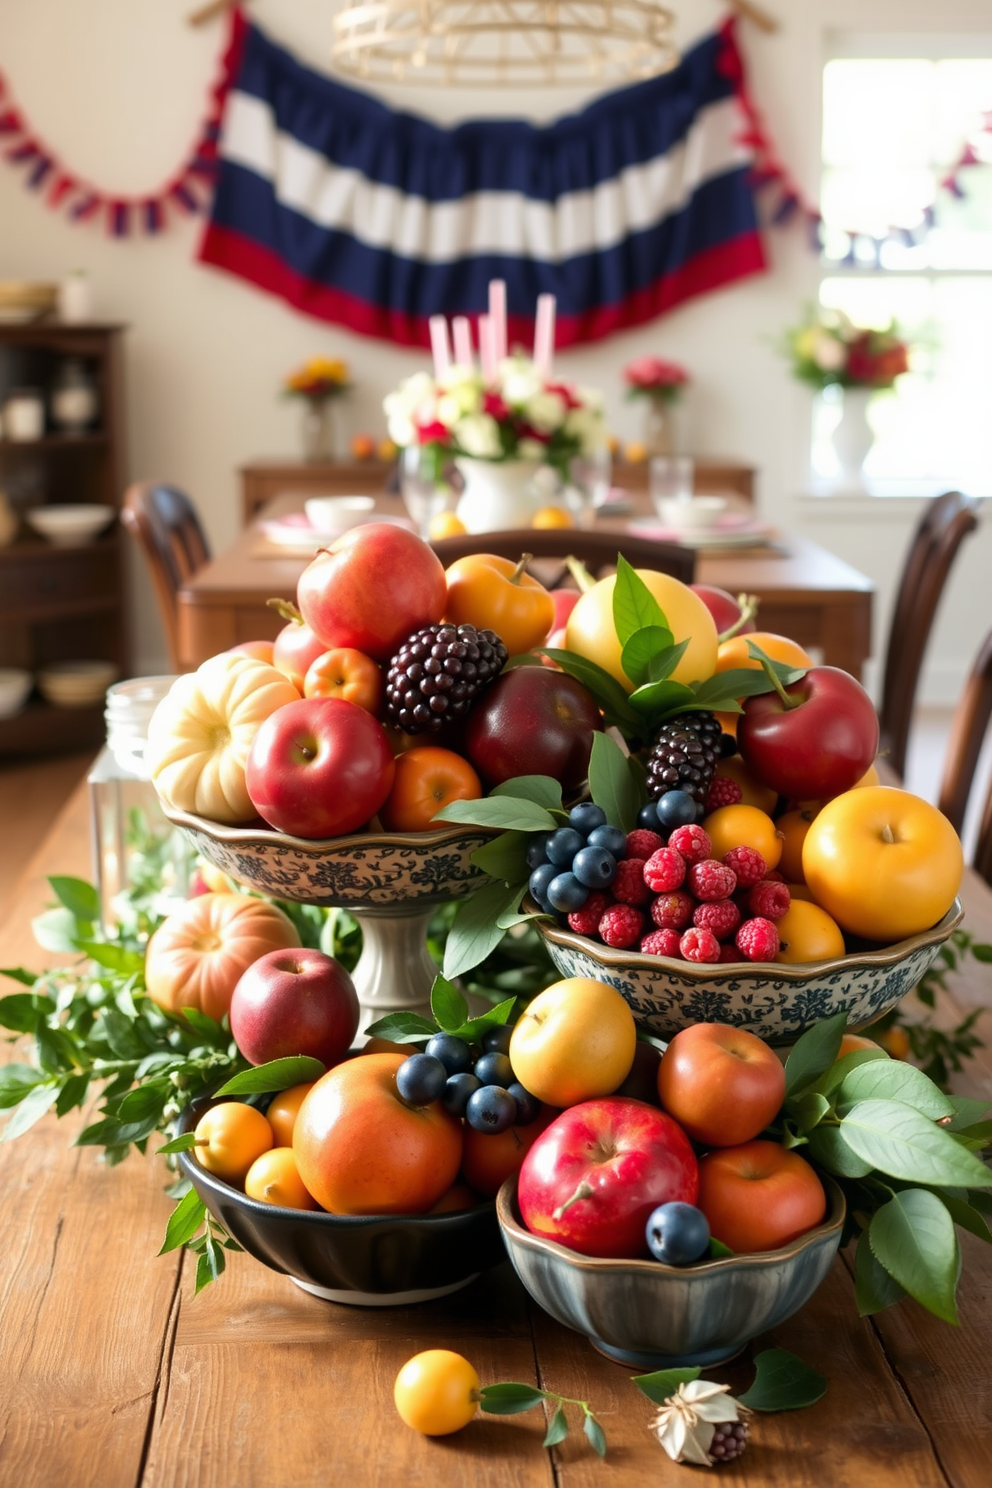
<svg viewBox="0 0 992 1488">
<path fill-rule="evenodd" d="M 403 641 L 385 679 L 385 711 L 405 734 L 436 734 L 468 711 L 503 671 L 507 649 L 495 631 L 427 625 Z"/>
</svg>

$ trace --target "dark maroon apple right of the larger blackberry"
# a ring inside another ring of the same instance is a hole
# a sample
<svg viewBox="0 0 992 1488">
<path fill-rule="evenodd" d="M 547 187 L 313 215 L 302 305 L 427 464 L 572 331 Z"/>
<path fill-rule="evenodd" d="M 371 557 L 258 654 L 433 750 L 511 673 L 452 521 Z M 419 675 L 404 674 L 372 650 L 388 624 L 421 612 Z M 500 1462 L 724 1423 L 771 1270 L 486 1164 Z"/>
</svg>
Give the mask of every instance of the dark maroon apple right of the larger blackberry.
<svg viewBox="0 0 992 1488">
<path fill-rule="evenodd" d="M 466 750 L 486 786 L 513 775 L 552 775 L 580 786 L 602 716 L 574 677 L 549 667 L 504 673 L 468 714 Z"/>
</svg>

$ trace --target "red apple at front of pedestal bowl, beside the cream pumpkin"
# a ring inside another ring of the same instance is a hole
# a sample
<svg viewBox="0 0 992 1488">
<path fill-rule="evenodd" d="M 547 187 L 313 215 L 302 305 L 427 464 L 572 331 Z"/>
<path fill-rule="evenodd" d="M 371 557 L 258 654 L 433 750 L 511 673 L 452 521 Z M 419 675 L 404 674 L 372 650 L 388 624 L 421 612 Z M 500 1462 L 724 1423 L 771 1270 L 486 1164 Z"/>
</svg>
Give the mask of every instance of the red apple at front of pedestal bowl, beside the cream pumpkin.
<svg viewBox="0 0 992 1488">
<path fill-rule="evenodd" d="M 344 698 L 300 698 L 256 734 L 245 765 L 259 815 L 292 836 L 354 832 L 393 789 L 396 762 L 382 725 Z"/>
</svg>

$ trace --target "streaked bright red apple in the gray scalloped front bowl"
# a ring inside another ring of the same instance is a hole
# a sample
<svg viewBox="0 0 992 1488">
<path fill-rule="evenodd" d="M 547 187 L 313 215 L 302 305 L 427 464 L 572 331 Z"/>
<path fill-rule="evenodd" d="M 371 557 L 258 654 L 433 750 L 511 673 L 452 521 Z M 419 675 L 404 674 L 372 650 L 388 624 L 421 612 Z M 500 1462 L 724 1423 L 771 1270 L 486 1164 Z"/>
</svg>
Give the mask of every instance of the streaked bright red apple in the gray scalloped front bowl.
<svg viewBox="0 0 992 1488">
<path fill-rule="evenodd" d="M 689 1137 L 654 1106 L 611 1095 L 562 1112 L 521 1168 L 521 1217 L 534 1235 L 583 1256 L 635 1260 L 659 1204 L 695 1204 Z"/>
</svg>

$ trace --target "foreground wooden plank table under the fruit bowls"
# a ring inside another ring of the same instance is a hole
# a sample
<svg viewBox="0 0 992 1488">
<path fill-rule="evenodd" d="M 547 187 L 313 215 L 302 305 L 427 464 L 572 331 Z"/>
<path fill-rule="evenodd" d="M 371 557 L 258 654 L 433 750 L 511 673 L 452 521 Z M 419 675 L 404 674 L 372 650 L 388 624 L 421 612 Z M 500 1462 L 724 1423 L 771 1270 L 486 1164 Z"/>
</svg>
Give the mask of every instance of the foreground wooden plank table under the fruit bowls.
<svg viewBox="0 0 992 1488">
<path fill-rule="evenodd" d="M 0 966 L 40 967 L 30 917 L 46 873 L 88 872 L 79 792 L 28 865 L 0 926 Z M 965 924 L 992 940 L 992 891 L 965 884 Z M 6 984 L 18 991 L 15 984 Z M 947 1015 L 992 1001 L 989 972 L 956 978 Z M 979 1030 L 992 1040 L 992 1016 Z M 992 1051 L 961 1089 L 992 1098 Z M 416 1308 L 320 1302 L 248 1256 L 193 1299 L 189 1256 L 156 1257 L 171 1210 L 164 1165 L 106 1168 L 70 1147 L 80 1120 L 46 1116 L 0 1146 L 0 1482 L 10 1488 L 686 1488 L 645 1427 L 629 1369 L 526 1301 L 509 1265 Z M 962 1324 L 916 1303 L 866 1321 L 839 1257 L 806 1308 L 757 1347 L 781 1345 L 828 1379 L 808 1411 L 757 1417 L 723 1488 L 988 1488 L 992 1455 L 992 1248 L 962 1235 Z M 448 1347 L 483 1382 L 518 1379 L 589 1400 L 607 1463 L 573 1424 L 553 1454 L 538 1411 L 482 1417 L 428 1440 L 400 1424 L 393 1379 Z M 744 1390 L 751 1351 L 708 1376 Z"/>
</svg>

